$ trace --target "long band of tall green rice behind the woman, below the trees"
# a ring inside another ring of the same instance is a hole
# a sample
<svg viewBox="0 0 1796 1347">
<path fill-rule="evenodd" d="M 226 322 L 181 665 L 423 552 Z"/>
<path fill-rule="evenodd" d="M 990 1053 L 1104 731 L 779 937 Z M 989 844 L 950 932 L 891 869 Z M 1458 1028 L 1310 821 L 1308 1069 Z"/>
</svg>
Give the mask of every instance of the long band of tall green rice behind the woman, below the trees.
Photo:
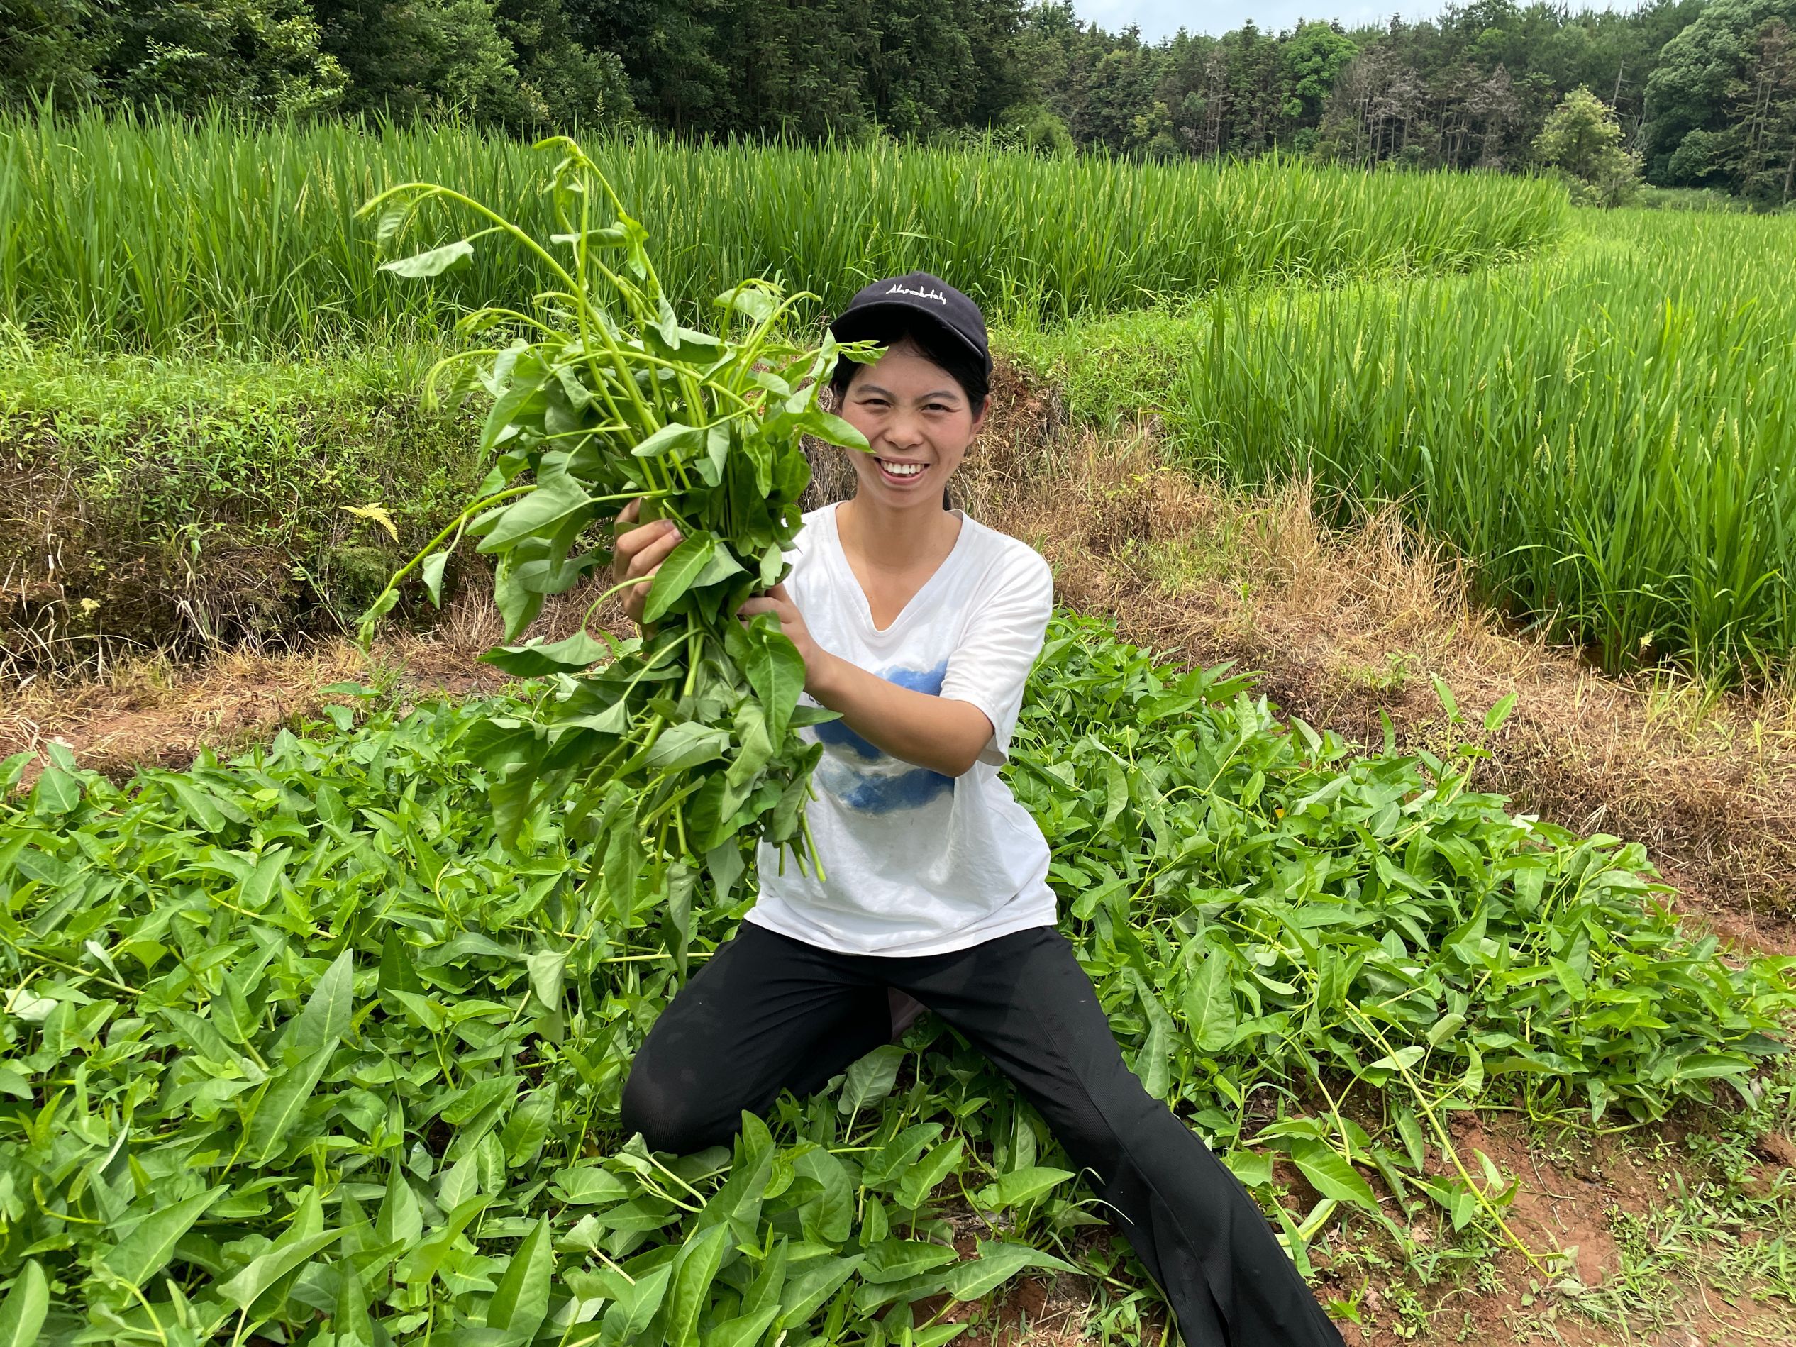
<svg viewBox="0 0 1796 1347">
<path fill-rule="evenodd" d="M 921 268 L 993 316 L 1058 320 L 1263 277 L 1476 266 L 1537 248 L 1566 216 L 1564 194 L 1539 181 L 1273 160 L 1130 165 L 889 142 L 589 149 L 686 305 L 781 273 L 833 307 Z M 449 286 L 397 284 L 352 216 L 422 178 L 548 233 L 539 171 L 528 145 L 458 128 L 5 117 L 0 320 L 93 348 L 304 348 L 524 300 L 539 277 L 497 244 Z M 462 235 L 440 224 L 413 242 Z"/>
</svg>

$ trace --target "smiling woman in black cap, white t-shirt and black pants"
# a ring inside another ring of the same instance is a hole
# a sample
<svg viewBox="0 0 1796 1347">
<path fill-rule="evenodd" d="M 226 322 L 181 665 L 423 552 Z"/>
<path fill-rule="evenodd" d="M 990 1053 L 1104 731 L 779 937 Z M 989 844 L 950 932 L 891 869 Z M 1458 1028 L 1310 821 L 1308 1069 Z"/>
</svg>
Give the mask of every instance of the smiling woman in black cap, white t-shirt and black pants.
<svg viewBox="0 0 1796 1347">
<path fill-rule="evenodd" d="M 946 508 L 986 415 L 977 305 L 912 273 L 832 323 L 885 347 L 844 361 L 839 411 L 871 445 L 853 499 L 805 515 L 774 612 L 810 700 L 841 713 L 808 806 L 821 876 L 763 844 L 760 898 L 661 1015 L 623 1092 L 654 1149 L 727 1142 L 744 1108 L 810 1094 L 891 1042 L 894 1008 L 934 1009 L 1042 1112 L 1193 1347 L 1342 1343 L 1246 1189 L 1122 1063 L 1056 930 L 1047 842 L 999 778 L 1052 607 L 1047 564 Z M 634 523 L 634 506 L 621 523 Z M 648 577 L 668 521 L 618 537 L 616 578 Z"/>
</svg>

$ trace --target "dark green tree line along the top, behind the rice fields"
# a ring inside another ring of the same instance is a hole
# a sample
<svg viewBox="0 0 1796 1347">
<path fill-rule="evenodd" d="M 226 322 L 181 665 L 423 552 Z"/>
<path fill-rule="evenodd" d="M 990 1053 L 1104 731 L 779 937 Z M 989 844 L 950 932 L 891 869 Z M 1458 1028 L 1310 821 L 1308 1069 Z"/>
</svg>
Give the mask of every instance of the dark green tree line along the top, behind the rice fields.
<svg viewBox="0 0 1796 1347">
<path fill-rule="evenodd" d="M 1475 0 L 1153 43 L 1069 0 L 0 0 L 0 101 L 1528 171 L 1588 90 L 1573 111 L 1600 104 L 1649 181 L 1776 205 L 1792 38 L 1796 0 Z"/>
</svg>

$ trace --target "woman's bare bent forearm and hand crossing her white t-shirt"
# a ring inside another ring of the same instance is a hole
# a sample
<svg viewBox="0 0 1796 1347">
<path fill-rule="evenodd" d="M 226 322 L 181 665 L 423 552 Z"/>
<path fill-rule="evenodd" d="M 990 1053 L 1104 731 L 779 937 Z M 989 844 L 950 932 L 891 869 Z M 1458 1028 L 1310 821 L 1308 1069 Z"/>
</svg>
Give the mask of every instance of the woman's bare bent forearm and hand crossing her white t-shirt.
<svg viewBox="0 0 1796 1347">
<path fill-rule="evenodd" d="M 751 598 L 740 612 L 745 618 L 778 616 L 805 657 L 805 691 L 841 711 L 842 724 L 894 758 L 943 776 L 963 776 L 991 740 L 991 720 L 972 702 L 900 688 L 819 647 L 785 585 L 774 585 L 765 598 Z"/>
</svg>

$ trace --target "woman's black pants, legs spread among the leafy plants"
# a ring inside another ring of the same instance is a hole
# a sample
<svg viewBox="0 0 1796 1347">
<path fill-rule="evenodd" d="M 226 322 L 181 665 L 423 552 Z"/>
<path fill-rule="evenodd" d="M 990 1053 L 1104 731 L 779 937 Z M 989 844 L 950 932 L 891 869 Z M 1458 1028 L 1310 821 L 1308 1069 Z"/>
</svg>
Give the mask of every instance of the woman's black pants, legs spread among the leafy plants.
<svg viewBox="0 0 1796 1347">
<path fill-rule="evenodd" d="M 657 1151 L 727 1142 L 742 1110 L 812 1094 L 891 1036 L 887 988 L 963 1033 L 1042 1110 L 1166 1290 L 1189 1347 L 1342 1347 L 1228 1167 L 1122 1063 L 1052 927 L 952 954 L 835 954 L 744 925 L 663 1011 L 630 1067 L 623 1128 Z"/>
</svg>

